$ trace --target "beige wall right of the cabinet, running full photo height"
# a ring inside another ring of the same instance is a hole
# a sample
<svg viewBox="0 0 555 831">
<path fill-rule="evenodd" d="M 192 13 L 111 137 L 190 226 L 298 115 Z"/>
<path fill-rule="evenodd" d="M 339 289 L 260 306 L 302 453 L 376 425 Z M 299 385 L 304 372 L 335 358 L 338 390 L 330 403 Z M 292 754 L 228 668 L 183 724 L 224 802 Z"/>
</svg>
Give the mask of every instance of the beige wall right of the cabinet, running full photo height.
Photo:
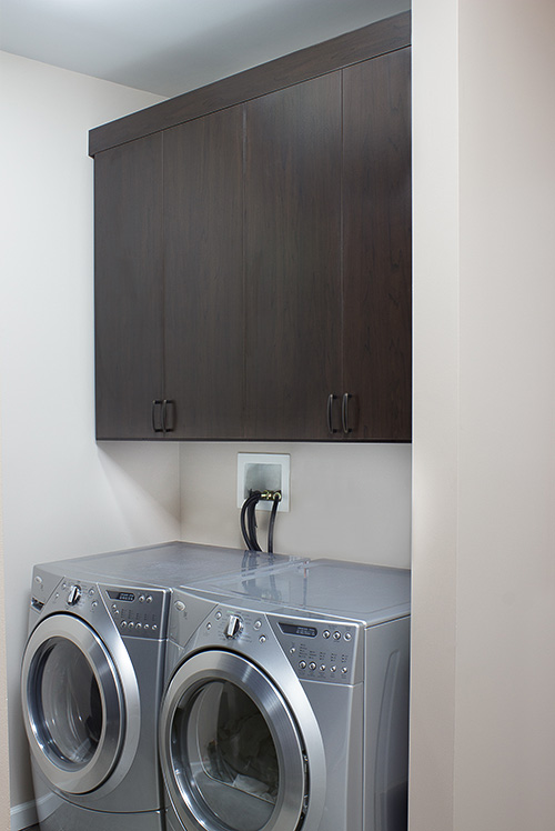
<svg viewBox="0 0 555 831">
<path fill-rule="evenodd" d="M 555 6 L 413 24 L 411 831 L 549 829 Z"/>
</svg>

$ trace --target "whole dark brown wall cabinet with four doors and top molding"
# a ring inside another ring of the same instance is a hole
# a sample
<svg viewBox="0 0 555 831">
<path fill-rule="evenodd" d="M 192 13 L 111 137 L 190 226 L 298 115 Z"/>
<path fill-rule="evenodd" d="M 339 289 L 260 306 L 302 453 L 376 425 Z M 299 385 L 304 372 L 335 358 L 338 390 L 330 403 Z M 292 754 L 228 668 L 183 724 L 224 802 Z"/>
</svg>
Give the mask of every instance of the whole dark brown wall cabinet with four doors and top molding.
<svg viewBox="0 0 555 831">
<path fill-rule="evenodd" d="M 99 439 L 410 440 L 408 42 L 397 16 L 91 131 Z"/>
</svg>

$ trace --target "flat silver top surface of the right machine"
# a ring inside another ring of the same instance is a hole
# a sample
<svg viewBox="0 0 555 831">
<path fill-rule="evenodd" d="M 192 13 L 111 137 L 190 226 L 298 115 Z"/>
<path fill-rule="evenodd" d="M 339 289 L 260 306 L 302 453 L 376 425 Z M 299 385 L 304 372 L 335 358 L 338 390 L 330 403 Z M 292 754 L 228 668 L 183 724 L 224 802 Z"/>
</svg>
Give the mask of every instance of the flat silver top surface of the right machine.
<svg viewBox="0 0 555 831">
<path fill-rule="evenodd" d="M 379 623 L 411 612 L 411 572 L 340 560 L 276 563 L 241 574 L 199 581 L 195 590 L 236 604 L 269 611 Z"/>
</svg>

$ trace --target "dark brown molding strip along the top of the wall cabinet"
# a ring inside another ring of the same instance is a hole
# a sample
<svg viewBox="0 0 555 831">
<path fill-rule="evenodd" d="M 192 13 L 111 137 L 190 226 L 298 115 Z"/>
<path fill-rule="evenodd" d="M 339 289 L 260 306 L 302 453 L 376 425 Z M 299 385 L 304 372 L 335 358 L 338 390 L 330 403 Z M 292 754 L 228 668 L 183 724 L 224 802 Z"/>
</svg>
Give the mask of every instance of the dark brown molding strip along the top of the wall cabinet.
<svg viewBox="0 0 555 831">
<path fill-rule="evenodd" d="M 89 156 L 411 46 L 411 12 L 340 34 L 89 131 Z"/>
</svg>

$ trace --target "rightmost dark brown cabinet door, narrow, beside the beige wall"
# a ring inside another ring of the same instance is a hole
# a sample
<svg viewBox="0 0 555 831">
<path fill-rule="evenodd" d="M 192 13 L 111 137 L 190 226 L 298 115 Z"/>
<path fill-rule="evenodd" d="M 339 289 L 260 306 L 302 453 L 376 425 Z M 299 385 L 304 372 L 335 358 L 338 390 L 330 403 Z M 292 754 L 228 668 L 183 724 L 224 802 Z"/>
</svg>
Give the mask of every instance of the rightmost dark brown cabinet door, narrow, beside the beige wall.
<svg viewBox="0 0 555 831">
<path fill-rule="evenodd" d="M 411 439 L 411 53 L 344 70 L 344 390 L 353 439 Z"/>
</svg>

